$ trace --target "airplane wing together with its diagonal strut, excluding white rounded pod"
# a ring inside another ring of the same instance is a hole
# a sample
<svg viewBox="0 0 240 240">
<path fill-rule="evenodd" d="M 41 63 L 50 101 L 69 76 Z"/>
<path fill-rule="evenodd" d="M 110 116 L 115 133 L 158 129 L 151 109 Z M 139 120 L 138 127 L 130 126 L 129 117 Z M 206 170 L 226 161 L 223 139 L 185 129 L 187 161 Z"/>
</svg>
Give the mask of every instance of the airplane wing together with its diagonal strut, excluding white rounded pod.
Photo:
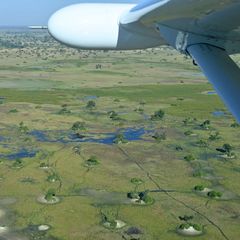
<svg viewBox="0 0 240 240">
<path fill-rule="evenodd" d="M 123 26 L 155 26 L 166 41 L 197 62 L 240 122 L 240 1 L 144 0 L 124 13 Z"/>
</svg>

